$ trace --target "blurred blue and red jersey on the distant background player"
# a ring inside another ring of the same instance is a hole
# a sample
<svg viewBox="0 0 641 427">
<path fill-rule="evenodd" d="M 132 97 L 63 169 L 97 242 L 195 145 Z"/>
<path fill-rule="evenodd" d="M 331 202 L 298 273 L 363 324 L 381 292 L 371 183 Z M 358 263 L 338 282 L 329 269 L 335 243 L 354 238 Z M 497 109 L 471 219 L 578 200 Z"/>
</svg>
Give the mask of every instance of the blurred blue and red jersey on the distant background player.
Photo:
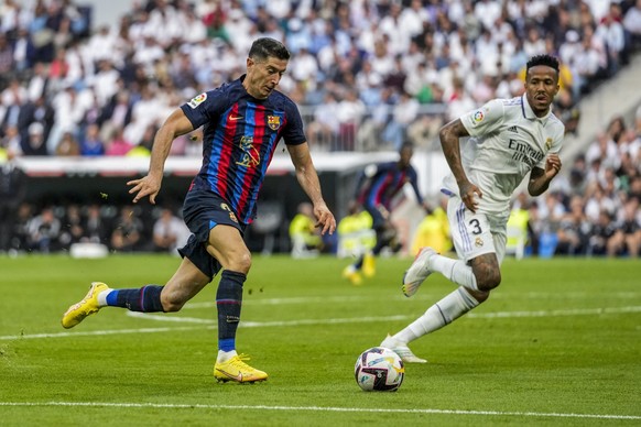
<svg viewBox="0 0 641 427">
<path fill-rule="evenodd" d="M 401 168 L 399 162 L 387 162 L 373 166 L 376 167 L 373 173 L 367 174 L 369 171 L 366 168 L 358 180 L 356 198 L 361 205 L 371 207 L 382 205 L 391 210 L 392 199 L 406 183 L 412 185 L 419 204 L 423 202 L 416 169 L 412 165 Z"/>
</svg>

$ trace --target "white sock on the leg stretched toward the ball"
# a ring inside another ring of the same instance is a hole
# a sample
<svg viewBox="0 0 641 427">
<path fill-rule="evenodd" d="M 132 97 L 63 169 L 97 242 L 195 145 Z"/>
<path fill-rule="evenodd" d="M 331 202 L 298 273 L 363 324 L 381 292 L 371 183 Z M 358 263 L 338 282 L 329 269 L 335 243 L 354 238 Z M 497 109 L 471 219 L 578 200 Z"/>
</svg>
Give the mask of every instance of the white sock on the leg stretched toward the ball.
<svg viewBox="0 0 641 427">
<path fill-rule="evenodd" d="M 427 311 L 423 316 L 406 326 L 394 338 L 402 343 L 408 343 L 426 333 L 434 332 L 445 325 L 452 324 L 478 305 L 479 302 L 465 287 L 460 286 L 427 308 Z"/>
</svg>

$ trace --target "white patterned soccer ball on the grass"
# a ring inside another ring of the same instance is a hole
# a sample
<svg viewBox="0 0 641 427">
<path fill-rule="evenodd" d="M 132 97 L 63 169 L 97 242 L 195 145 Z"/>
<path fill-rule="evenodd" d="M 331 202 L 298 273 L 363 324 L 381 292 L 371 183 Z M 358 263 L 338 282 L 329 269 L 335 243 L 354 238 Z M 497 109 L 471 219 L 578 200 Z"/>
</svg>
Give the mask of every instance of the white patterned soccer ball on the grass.
<svg viewBox="0 0 641 427">
<path fill-rule="evenodd" d="M 372 347 L 363 351 L 354 366 L 356 383 L 366 392 L 395 392 L 403 383 L 405 366 L 392 350 Z"/>
</svg>

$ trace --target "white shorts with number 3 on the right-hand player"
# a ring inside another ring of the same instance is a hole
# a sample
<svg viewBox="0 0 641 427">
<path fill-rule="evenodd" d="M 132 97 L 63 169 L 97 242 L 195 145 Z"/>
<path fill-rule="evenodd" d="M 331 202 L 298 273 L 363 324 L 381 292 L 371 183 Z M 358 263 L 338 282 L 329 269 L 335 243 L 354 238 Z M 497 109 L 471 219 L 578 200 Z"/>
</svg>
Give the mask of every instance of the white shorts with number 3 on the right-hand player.
<svg viewBox="0 0 641 427">
<path fill-rule="evenodd" d="M 499 264 L 506 256 L 507 216 L 472 214 L 460 197 L 447 201 L 447 219 L 458 258 L 466 263 L 486 253 L 496 253 Z"/>
</svg>

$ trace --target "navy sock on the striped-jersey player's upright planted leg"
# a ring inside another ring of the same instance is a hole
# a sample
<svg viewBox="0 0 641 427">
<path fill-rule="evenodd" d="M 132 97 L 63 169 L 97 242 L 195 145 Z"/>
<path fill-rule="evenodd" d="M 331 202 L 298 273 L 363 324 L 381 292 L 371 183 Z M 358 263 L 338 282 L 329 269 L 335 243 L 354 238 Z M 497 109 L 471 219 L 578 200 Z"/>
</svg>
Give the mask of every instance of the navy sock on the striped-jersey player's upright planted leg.
<svg viewBox="0 0 641 427">
<path fill-rule="evenodd" d="M 242 306 L 242 284 L 247 280 L 243 273 L 225 270 L 216 292 L 218 308 L 218 349 L 236 350 L 236 330 L 240 321 Z"/>
</svg>

